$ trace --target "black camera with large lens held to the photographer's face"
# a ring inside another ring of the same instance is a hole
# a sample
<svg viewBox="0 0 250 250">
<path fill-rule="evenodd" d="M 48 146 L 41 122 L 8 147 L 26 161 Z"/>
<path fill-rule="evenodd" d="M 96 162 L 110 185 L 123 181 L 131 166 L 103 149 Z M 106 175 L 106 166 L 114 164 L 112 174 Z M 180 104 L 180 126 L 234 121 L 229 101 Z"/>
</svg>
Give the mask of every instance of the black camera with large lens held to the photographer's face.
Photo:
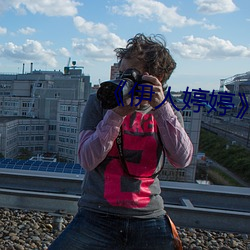
<svg viewBox="0 0 250 250">
<path fill-rule="evenodd" d="M 134 96 L 138 96 L 136 90 L 138 89 L 138 85 L 143 82 L 142 75 L 138 70 L 127 69 L 120 78 L 102 82 L 97 91 L 97 98 L 101 101 L 102 108 L 115 108 L 122 105 L 123 101 L 131 96 L 130 92 L 135 84 L 133 94 Z"/>
</svg>

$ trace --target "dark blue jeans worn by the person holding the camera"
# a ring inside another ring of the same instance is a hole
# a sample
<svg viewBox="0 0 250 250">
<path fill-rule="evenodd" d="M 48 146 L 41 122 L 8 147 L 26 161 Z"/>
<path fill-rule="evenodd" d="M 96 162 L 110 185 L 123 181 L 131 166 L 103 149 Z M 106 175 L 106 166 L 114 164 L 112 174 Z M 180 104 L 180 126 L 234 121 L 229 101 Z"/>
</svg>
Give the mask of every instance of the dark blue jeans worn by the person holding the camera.
<svg viewBox="0 0 250 250">
<path fill-rule="evenodd" d="M 165 216 L 124 218 L 80 208 L 48 250 L 172 250 L 172 240 Z"/>
</svg>

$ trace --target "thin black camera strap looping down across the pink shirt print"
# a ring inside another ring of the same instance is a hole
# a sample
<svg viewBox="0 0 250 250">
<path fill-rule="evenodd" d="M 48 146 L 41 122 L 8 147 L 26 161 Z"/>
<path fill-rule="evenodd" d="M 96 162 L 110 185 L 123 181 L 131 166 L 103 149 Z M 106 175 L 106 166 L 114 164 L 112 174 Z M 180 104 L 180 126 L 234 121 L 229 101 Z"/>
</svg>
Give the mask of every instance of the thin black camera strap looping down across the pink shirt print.
<svg viewBox="0 0 250 250">
<path fill-rule="evenodd" d="M 119 130 L 118 136 L 116 138 L 116 144 L 117 144 L 117 148 L 118 148 L 118 152 L 119 152 L 119 156 L 120 156 L 120 160 L 121 160 L 122 169 L 124 170 L 124 172 L 128 176 L 133 177 L 133 178 L 153 178 L 154 179 L 162 171 L 164 162 L 161 166 L 161 169 L 159 171 L 157 171 L 156 173 L 152 174 L 151 176 L 136 176 L 136 175 L 130 174 L 128 167 L 127 167 L 127 164 L 126 164 L 126 161 L 125 161 L 125 158 L 124 158 L 124 154 L 123 154 L 122 128 L 120 128 L 120 130 Z M 165 156 L 164 156 L 164 158 L 165 158 Z"/>
</svg>

